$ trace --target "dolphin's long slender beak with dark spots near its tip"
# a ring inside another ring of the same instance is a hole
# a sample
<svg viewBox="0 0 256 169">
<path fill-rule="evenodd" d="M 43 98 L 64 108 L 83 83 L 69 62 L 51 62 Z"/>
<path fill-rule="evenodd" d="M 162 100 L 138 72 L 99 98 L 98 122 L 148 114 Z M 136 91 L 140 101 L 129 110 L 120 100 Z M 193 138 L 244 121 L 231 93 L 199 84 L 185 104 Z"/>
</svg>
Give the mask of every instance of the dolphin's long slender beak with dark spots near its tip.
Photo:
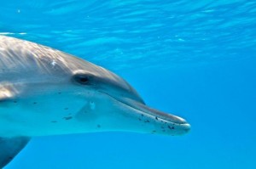
<svg viewBox="0 0 256 169">
<path fill-rule="evenodd" d="M 165 135 L 183 135 L 190 130 L 190 125 L 183 118 L 148 107 L 133 99 L 115 98 L 119 104 L 124 104 L 131 110 L 133 118 L 140 121 L 142 132 L 160 133 Z M 144 128 L 144 130 L 143 130 Z"/>
</svg>

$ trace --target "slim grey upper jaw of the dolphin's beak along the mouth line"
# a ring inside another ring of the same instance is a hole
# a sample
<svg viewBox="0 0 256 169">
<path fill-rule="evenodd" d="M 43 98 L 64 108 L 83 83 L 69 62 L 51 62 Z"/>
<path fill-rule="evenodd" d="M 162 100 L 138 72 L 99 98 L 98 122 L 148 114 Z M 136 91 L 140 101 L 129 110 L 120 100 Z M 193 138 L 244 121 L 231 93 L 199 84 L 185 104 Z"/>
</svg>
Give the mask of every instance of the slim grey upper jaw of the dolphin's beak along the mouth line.
<svg viewBox="0 0 256 169">
<path fill-rule="evenodd" d="M 152 108 L 149 108 L 146 104 L 142 104 L 128 98 L 117 99 L 116 97 L 113 97 L 108 93 L 105 93 L 102 91 L 98 91 L 98 92 L 108 95 L 108 97 L 114 99 L 115 101 L 121 104 L 125 104 L 125 106 L 128 106 L 131 109 L 137 110 L 141 113 L 141 115 L 148 116 L 148 118 L 154 119 L 155 121 L 161 121 L 164 123 L 171 123 L 172 125 L 189 127 L 189 123 L 187 121 L 185 121 L 183 118 L 178 117 L 176 115 L 163 113 L 160 110 L 154 110 Z"/>
</svg>

